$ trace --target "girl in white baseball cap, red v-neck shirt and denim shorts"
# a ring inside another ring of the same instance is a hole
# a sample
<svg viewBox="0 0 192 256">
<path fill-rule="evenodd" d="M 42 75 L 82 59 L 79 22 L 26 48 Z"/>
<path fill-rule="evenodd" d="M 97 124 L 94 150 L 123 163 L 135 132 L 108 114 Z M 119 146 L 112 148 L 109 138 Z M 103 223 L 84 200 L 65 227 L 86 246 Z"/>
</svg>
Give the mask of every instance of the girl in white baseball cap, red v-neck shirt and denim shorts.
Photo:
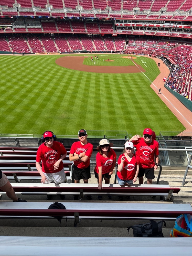
<svg viewBox="0 0 192 256">
<path fill-rule="evenodd" d="M 127 141 L 125 143 L 125 153 L 119 156 L 117 180 L 119 185 L 132 185 L 137 180 L 139 172 L 139 158 L 133 154 L 133 142 Z M 123 196 L 118 196 L 123 199 Z M 127 198 L 130 198 L 128 196 Z"/>
</svg>

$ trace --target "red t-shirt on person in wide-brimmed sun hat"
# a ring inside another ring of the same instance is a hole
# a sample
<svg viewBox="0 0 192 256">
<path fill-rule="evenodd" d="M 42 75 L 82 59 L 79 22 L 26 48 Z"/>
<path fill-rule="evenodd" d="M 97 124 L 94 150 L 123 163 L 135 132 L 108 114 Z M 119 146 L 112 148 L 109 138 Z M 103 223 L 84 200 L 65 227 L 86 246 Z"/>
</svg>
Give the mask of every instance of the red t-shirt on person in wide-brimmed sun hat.
<svg viewBox="0 0 192 256">
<path fill-rule="evenodd" d="M 104 157 L 98 152 L 96 155 L 95 172 L 99 173 L 98 166 L 101 166 L 102 174 L 108 173 L 111 170 L 111 165 L 113 164 L 113 161 L 116 161 L 116 154 L 112 148 L 111 151 L 108 153 L 108 157 Z"/>
</svg>

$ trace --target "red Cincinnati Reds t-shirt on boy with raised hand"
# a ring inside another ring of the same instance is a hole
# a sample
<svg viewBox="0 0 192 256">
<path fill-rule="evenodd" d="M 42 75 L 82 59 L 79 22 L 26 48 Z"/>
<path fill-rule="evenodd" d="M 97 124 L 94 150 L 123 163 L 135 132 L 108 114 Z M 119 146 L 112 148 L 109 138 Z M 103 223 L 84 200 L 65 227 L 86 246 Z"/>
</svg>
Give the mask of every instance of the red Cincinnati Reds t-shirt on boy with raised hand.
<svg viewBox="0 0 192 256">
<path fill-rule="evenodd" d="M 138 141 L 132 141 L 136 147 L 136 155 L 140 158 L 141 168 L 153 168 L 155 166 L 154 157 L 159 154 L 159 144 L 152 140 L 151 143 L 146 143 L 143 138 Z"/>
</svg>

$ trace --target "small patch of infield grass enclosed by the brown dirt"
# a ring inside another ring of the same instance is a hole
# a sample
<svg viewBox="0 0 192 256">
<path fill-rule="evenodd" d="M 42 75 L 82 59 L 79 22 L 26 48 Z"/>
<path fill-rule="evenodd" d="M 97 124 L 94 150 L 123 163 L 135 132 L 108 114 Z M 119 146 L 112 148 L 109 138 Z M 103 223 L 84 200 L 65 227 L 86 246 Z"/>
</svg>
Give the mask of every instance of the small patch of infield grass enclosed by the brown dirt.
<svg viewBox="0 0 192 256">
<path fill-rule="evenodd" d="M 108 61 L 108 59 L 113 61 Z M 104 61 L 103 61 L 104 60 Z M 130 59 L 121 58 L 121 57 L 103 57 L 102 55 L 98 55 L 98 59 L 95 59 L 93 56 L 93 62 L 91 61 L 91 57 L 84 58 L 83 64 L 93 66 L 95 64 L 97 66 L 134 66 L 135 64 Z"/>
</svg>

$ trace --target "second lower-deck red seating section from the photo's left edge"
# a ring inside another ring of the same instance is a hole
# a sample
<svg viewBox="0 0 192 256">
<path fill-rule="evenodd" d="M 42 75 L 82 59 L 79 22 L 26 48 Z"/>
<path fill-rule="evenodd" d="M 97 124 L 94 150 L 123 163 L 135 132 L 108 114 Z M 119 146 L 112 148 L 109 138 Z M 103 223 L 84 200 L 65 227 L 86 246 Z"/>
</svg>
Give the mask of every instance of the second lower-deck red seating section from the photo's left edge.
<svg viewBox="0 0 192 256">
<path fill-rule="evenodd" d="M 29 47 L 25 41 L 25 38 L 23 36 L 7 36 L 8 38 L 8 45 L 11 48 L 13 52 L 28 52 L 30 53 Z"/>
</svg>

